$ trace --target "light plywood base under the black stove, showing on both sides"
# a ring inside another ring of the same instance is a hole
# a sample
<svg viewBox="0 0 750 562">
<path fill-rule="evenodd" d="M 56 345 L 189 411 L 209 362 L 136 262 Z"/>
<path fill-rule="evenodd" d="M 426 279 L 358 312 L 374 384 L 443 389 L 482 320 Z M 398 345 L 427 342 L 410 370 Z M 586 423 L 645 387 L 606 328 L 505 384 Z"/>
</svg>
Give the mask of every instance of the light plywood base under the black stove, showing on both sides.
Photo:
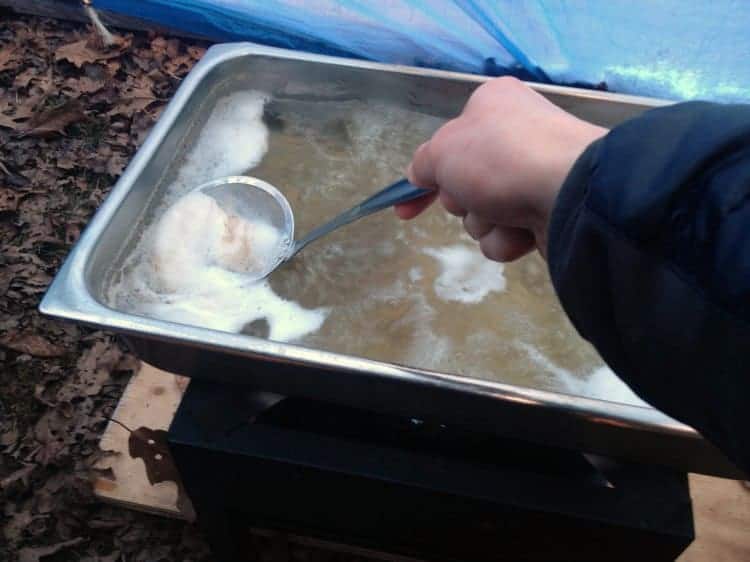
<svg viewBox="0 0 750 562">
<path fill-rule="evenodd" d="M 128 385 L 113 415 L 131 429 L 149 427 L 166 430 L 177 410 L 188 379 L 144 365 Z M 101 447 L 115 454 L 100 462 L 111 477 L 94 482 L 95 494 L 103 501 L 169 517 L 189 518 L 177 508 L 177 485 L 151 485 L 141 459 L 128 452 L 129 433 L 110 422 Z M 690 475 L 696 540 L 680 556 L 681 562 L 750 560 L 750 491 L 741 482 Z M 262 531 L 259 531 L 262 534 Z M 288 537 L 293 543 L 304 539 Z M 309 542 L 309 541 L 307 541 Z M 316 542 L 317 546 L 320 543 Z M 331 545 L 331 548 L 336 548 Z"/>
</svg>

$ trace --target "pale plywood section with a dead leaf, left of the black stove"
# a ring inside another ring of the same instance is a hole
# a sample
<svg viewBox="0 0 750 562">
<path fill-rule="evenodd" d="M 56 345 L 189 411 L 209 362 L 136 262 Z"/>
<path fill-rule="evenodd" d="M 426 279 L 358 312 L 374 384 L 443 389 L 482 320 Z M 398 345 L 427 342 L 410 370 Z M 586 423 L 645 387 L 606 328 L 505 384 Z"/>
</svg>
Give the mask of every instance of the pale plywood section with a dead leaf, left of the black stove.
<svg viewBox="0 0 750 562">
<path fill-rule="evenodd" d="M 139 427 L 167 430 L 189 380 L 143 364 L 130 380 L 112 418 L 131 430 Z M 191 508 L 180 512 L 177 507 L 177 484 L 149 483 L 143 460 L 130 456 L 129 437 L 130 433 L 122 425 L 111 421 L 107 425 L 99 447 L 115 454 L 99 461 L 97 468 L 111 470 L 112 478 L 97 477 L 94 494 L 104 501 L 125 507 L 191 519 Z"/>
</svg>

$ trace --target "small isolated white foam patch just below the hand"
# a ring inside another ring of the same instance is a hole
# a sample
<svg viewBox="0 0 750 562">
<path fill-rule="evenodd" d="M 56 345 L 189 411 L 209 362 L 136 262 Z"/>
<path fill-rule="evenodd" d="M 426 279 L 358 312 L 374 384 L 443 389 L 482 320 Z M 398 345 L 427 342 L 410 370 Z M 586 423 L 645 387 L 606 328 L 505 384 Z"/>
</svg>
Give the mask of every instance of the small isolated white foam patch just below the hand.
<svg viewBox="0 0 750 562">
<path fill-rule="evenodd" d="M 443 300 L 473 304 L 492 292 L 505 290 L 503 264 L 488 260 L 477 249 L 456 244 L 425 248 L 424 253 L 440 263 L 434 288 Z"/>
</svg>

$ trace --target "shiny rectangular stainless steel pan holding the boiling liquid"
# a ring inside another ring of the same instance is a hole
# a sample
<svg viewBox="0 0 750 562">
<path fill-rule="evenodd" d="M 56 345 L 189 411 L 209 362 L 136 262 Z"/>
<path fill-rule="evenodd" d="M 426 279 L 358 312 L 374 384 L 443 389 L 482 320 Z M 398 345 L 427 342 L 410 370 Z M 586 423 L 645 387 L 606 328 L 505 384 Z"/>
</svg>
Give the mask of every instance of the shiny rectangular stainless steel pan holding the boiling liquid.
<svg viewBox="0 0 750 562">
<path fill-rule="evenodd" d="M 123 334 L 145 361 L 190 377 L 460 424 L 537 443 L 738 476 L 691 428 L 645 407 L 407 368 L 299 345 L 146 318 L 105 303 L 108 267 L 174 158 L 191 119 L 244 73 L 273 96 L 350 95 L 451 117 L 486 77 L 376 64 L 240 43 L 214 46 L 180 86 L 92 219 L 41 304 L 45 314 Z M 613 126 L 665 102 L 532 85 L 554 103 Z"/>
</svg>

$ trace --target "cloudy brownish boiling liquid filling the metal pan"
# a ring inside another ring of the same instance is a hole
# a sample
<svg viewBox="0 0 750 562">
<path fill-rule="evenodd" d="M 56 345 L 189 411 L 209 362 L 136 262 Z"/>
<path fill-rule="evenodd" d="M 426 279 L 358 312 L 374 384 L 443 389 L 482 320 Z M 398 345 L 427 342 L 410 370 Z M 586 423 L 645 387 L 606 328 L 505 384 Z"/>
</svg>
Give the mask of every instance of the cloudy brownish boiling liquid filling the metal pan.
<svg viewBox="0 0 750 562">
<path fill-rule="evenodd" d="M 237 106 L 255 103 L 257 109 L 257 100 L 267 98 L 241 94 L 219 101 L 221 111 L 214 110 L 167 188 L 162 214 L 190 187 L 247 173 L 284 193 L 299 237 L 402 177 L 414 149 L 443 122 L 356 100 L 272 100 L 265 105 L 270 129 L 265 135 L 252 110 L 243 113 Z M 223 138 L 218 134 L 222 120 L 236 129 L 243 115 L 256 123 L 251 134 L 243 138 L 241 129 Z M 209 142 L 206 131 L 213 135 L 212 128 L 216 138 Z M 232 144 L 232 162 L 222 162 L 222 142 Z M 199 150 L 202 145 L 206 148 Z M 267 148 L 265 156 L 258 145 Z M 244 160 L 238 146 L 247 148 Z M 208 171 L 200 167 L 206 156 L 213 162 Z M 158 221 L 160 213 L 154 216 Z M 174 306 L 133 290 L 144 277 L 153 228 L 146 226 L 147 234 L 115 276 L 110 298 L 119 308 L 408 366 L 637 402 L 577 336 L 537 254 L 508 265 L 490 262 L 460 220 L 437 205 L 409 222 L 388 210 L 360 220 L 276 270 L 262 284 L 265 292 L 249 295 L 250 301 L 233 294 L 240 302 L 232 307 L 226 294 L 207 295 L 200 301 L 206 312 L 192 316 L 175 315 Z M 254 299 L 260 299 L 256 305 L 263 314 L 249 314 L 238 326 L 238 308 L 252 307 Z M 265 301 L 272 306 L 264 312 Z M 285 305 L 292 307 L 286 316 L 272 314 L 273 307 Z M 224 307 L 235 311 L 234 323 L 220 321 Z"/>
</svg>

